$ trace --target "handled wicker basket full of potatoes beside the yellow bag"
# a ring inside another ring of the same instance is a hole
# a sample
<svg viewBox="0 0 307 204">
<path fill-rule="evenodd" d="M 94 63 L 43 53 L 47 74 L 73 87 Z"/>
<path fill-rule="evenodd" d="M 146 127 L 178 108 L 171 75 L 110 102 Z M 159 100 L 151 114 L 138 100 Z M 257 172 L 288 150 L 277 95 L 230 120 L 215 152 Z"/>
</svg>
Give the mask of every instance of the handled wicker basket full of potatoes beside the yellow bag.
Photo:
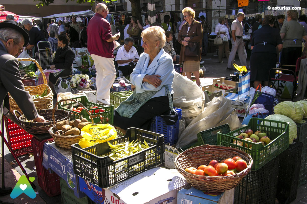
<svg viewBox="0 0 307 204">
<path fill-rule="evenodd" d="M 75 119 L 71 121 L 69 121 L 69 119 L 66 119 L 58 123 L 55 123 L 54 115 L 52 115 L 52 119 L 54 123 L 52 127 L 49 128 L 49 134 L 52 136 L 55 142 L 55 145 L 57 147 L 64 149 L 64 150 L 71 150 L 72 149 L 71 145 L 78 143 L 79 140 L 82 138 L 81 129 L 87 124 L 94 123 L 94 121 L 93 121 L 93 117 L 91 113 L 87 110 L 87 108 L 74 99 L 60 100 L 56 102 L 54 107 L 56 107 L 60 102 L 67 101 L 67 100 L 78 103 L 81 107 L 83 107 L 87 111 L 87 113 L 89 114 L 91 118 L 91 122 L 87 121 L 86 118 L 82 118 L 82 119 Z M 53 109 L 53 112 L 54 111 L 55 109 Z"/>
</svg>

